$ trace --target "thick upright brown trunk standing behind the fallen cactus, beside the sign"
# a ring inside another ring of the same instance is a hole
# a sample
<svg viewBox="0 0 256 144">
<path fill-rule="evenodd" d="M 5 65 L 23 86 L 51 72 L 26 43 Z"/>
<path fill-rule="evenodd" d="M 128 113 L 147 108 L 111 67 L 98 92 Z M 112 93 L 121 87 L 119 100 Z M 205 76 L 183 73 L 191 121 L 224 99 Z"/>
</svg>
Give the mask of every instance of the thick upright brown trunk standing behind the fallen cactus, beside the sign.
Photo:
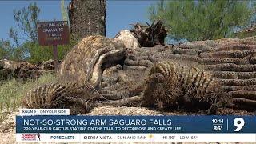
<svg viewBox="0 0 256 144">
<path fill-rule="evenodd" d="M 71 0 L 70 33 L 74 38 L 106 35 L 106 0 Z"/>
</svg>

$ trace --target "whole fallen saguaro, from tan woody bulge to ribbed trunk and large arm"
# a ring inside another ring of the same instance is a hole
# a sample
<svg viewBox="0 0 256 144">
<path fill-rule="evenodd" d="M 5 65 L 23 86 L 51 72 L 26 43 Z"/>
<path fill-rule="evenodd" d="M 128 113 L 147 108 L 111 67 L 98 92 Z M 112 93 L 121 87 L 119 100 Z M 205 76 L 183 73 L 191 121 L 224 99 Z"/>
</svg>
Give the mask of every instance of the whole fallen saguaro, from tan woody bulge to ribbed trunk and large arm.
<svg viewBox="0 0 256 144">
<path fill-rule="evenodd" d="M 98 101 L 97 106 L 138 106 L 142 102 L 142 106 L 158 110 L 179 107 L 186 111 L 202 110 L 203 114 L 217 114 L 218 106 L 255 111 L 254 41 L 254 38 L 222 38 L 178 46 L 126 49 L 122 42 L 90 36 L 67 54 L 58 75 L 75 83 L 82 81 L 100 97 L 87 101 L 91 98 L 91 91 L 87 91 L 88 98 L 87 92 L 85 97 L 79 97 L 86 101 L 80 101 L 75 97 L 76 92 L 72 92 L 68 94 L 71 98 L 54 97 L 58 98 L 54 106 L 65 105 L 61 99 L 66 99 L 73 104 L 81 103 L 80 108 L 86 102 L 94 106 Z M 69 91 L 69 86 L 63 87 Z M 56 94 L 61 93 L 62 89 Z"/>
</svg>

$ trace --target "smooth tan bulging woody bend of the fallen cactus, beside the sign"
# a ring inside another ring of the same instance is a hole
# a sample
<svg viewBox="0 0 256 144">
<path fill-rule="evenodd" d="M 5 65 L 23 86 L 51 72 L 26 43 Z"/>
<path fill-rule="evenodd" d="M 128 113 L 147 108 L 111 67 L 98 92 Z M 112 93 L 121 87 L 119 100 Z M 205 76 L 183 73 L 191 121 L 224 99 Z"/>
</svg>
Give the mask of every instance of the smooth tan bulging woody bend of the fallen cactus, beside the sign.
<svg viewBox="0 0 256 144">
<path fill-rule="evenodd" d="M 58 74 L 86 80 L 98 87 L 106 67 L 122 63 L 126 48 L 121 42 L 102 36 L 83 38 L 64 58 Z"/>
</svg>

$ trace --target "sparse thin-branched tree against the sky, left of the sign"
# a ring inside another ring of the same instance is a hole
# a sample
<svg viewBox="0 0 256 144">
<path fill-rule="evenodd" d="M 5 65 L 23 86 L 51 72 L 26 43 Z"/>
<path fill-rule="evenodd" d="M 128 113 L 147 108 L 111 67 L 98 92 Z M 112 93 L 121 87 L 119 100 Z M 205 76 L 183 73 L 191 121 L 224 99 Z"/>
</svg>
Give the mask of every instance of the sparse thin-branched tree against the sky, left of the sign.
<svg viewBox="0 0 256 144">
<path fill-rule="evenodd" d="M 14 10 L 14 20 L 25 37 L 18 37 L 18 31 L 13 27 L 10 28 L 9 36 L 13 39 L 16 45 L 15 47 L 13 46 L 9 56 L 10 59 L 19 61 L 30 56 L 29 47 L 26 47 L 26 45 L 20 42 L 20 39 L 23 39 L 26 42 L 38 42 L 37 22 L 39 13 L 40 9 L 36 2 L 30 3 L 29 6 L 23 7 L 22 10 Z"/>
</svg>

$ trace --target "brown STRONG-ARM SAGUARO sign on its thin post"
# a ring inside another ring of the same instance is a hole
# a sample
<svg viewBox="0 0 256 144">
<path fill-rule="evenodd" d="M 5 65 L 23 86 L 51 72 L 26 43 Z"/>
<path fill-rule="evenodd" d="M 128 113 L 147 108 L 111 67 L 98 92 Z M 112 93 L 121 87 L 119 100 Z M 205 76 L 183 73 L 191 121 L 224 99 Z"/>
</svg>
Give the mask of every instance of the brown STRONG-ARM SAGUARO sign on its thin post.
<svg viewBox="0 0 256 144">
<path fill-rule="evenodd" d="M 53 46 L 54 69 L 58 70 L 58 45 L 70 42 L 69 26 L 67 21 L 38 22 L 38 42 L 41 46 Z"/>
</svg>

